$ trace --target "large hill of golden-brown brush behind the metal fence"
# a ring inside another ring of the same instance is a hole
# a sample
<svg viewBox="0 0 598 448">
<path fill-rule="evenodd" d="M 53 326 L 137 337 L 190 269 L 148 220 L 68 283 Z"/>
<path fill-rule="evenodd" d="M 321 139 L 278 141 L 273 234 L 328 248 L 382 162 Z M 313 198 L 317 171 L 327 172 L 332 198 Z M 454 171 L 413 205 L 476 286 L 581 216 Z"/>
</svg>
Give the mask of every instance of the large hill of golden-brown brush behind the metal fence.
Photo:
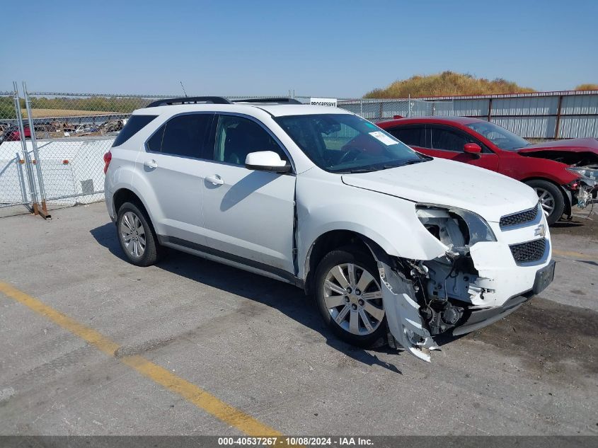
<svg viewBox="0 0 598 448">
<path fill-rule="evenodd" d="M 395 81 L 386 88 L 374 88 L 364 98 L 407 98 L 408 96 L 491 95 L 496 93 L 534 92 L 505 79 L 476 78 L 470 74 L 443 71 L 427 76 L 415 75 Z"/>
</svg>

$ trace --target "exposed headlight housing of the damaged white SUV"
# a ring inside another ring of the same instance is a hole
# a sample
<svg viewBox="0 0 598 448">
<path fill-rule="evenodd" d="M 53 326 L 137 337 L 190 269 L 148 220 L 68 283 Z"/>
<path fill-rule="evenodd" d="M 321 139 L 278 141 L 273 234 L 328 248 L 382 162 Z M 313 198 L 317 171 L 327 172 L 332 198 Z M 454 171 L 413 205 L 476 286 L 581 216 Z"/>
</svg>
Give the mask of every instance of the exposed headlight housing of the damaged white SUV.
<svg viewBox="0 0 598 448">
<path fill-rule="evenodd" d="M 418 204 L 418 219 L 445 246 L 466 248 L 481 241 L 496 241 L 488 222 L 466 209 L 442 205 Z"/>
</svg>

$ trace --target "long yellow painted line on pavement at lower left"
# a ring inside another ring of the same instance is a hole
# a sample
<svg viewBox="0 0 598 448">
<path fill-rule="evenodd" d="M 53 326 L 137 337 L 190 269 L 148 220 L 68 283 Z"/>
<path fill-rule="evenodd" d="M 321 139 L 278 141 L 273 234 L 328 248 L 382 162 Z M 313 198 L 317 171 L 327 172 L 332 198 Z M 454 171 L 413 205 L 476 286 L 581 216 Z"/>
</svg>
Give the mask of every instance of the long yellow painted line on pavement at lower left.
<svg viewBox="0 0 598 448">
<path fill-rule="evenodd" d="M 0 292 L 7 297 L 18 301 L 19 303 L 27 306 L 29 309 L 35 311 L 42 316 L 50 319 L 50 321 L 57 323 L 65 330 L 79 336 L 79 338 L 85 340 L 87 343 L 93 345 L 101 352 L 105 353 L 110 357 L 115 357 L 116 350 L 120 347 L 117 343 L 106 338 L 105 336 L 88 328 L 74 319 L 62 314 L 60 311 L 53 309 L 51 306 L 44 304 L 38 299 L 34 299 L 28 294 L 19 291 L 15 287 L 8 285 L 8 283 L 0 282 Z M 236 427 L 238 430 L 245 432 L 247 435 L 253 436 L 280 436 L 282 433 L 272 429 L 271 427 L 261 423 L 251 415 L 243 413 L 242 410 L 238 410 L 233 406 L 230 406 L 219 398 L 209 394 L 209 392 L 196 386 L 195 384 L 186 381 L 180 377 L 177 377 L 167 369 L 160 367 L 153 362 L 146 360 L 142 356 L 125 356 L 115 357 L 123 364 L 126 364 L 132 369 L 136 370 L 144 377 L 151 379 L 152 381 L 160 384 L 165 389 L 178 394 L 185 398 L 185 400 L 193 403 L 197 408 L 205 410 L 207 413 L 214 415 L 214 417 L 222 420 L 228 425 Z"/>
</svg>

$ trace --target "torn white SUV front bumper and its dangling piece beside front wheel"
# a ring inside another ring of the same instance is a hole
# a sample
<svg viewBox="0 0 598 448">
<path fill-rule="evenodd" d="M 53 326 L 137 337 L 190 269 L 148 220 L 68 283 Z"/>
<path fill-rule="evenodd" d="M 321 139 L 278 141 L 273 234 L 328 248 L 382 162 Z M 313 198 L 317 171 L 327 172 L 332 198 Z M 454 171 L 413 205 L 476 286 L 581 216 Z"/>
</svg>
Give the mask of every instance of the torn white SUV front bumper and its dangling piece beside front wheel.
<svg viewBox="0 0 598 448">
<path fill-rule="evenodd" d="M 546 234 L 538 235 L 538 229 Z M 471 261 L 478 271 L 475 285 L 482 287 L 484 293 L 459 297 L 459 301 L 468 305 L 463 317 L 452 329 L 453 335 L 468 333 L 500 320 L 553 280 L 555 262 L 551 260 L 547 226 L 534 225 L 509 232 L 497 229 L 496 234 L 498 241 L 480 242 L 470 248 Z M 517 263 L 511 246 L 539 238 L 546 238 L 542 257 L 534 263 Z M 437 345 L 420 315 L 415 285 L 412 280 L 392 270 L 389 264 L 378 258 L 389 330 L 399 345 L 429 362 L 430 350 L 437 349 Z"/>
</svg>

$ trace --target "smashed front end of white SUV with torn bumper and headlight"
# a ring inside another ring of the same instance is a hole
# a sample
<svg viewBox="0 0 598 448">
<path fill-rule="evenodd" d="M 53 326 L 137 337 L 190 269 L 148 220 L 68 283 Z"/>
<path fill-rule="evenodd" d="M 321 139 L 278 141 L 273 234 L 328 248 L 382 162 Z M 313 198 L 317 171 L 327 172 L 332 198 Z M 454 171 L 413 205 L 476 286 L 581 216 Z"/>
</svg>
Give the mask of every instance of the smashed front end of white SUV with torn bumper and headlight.
<svg viewBox="0 0 598 448">
<path fill-rule="evenodd" d="M 500 223 L 456 207 L 419 204 L 415 210 L 445 251 L 432 260 L 374 253 L 391 345 L 396 340 L 430 361 L 430 350 L 438 349 L 435 336 L 461 335 L 498 321 L 552 281 L 554 262 L 541 205 Z M 522 237 L 530 241 L 520 243 Z"/>
</svg>

